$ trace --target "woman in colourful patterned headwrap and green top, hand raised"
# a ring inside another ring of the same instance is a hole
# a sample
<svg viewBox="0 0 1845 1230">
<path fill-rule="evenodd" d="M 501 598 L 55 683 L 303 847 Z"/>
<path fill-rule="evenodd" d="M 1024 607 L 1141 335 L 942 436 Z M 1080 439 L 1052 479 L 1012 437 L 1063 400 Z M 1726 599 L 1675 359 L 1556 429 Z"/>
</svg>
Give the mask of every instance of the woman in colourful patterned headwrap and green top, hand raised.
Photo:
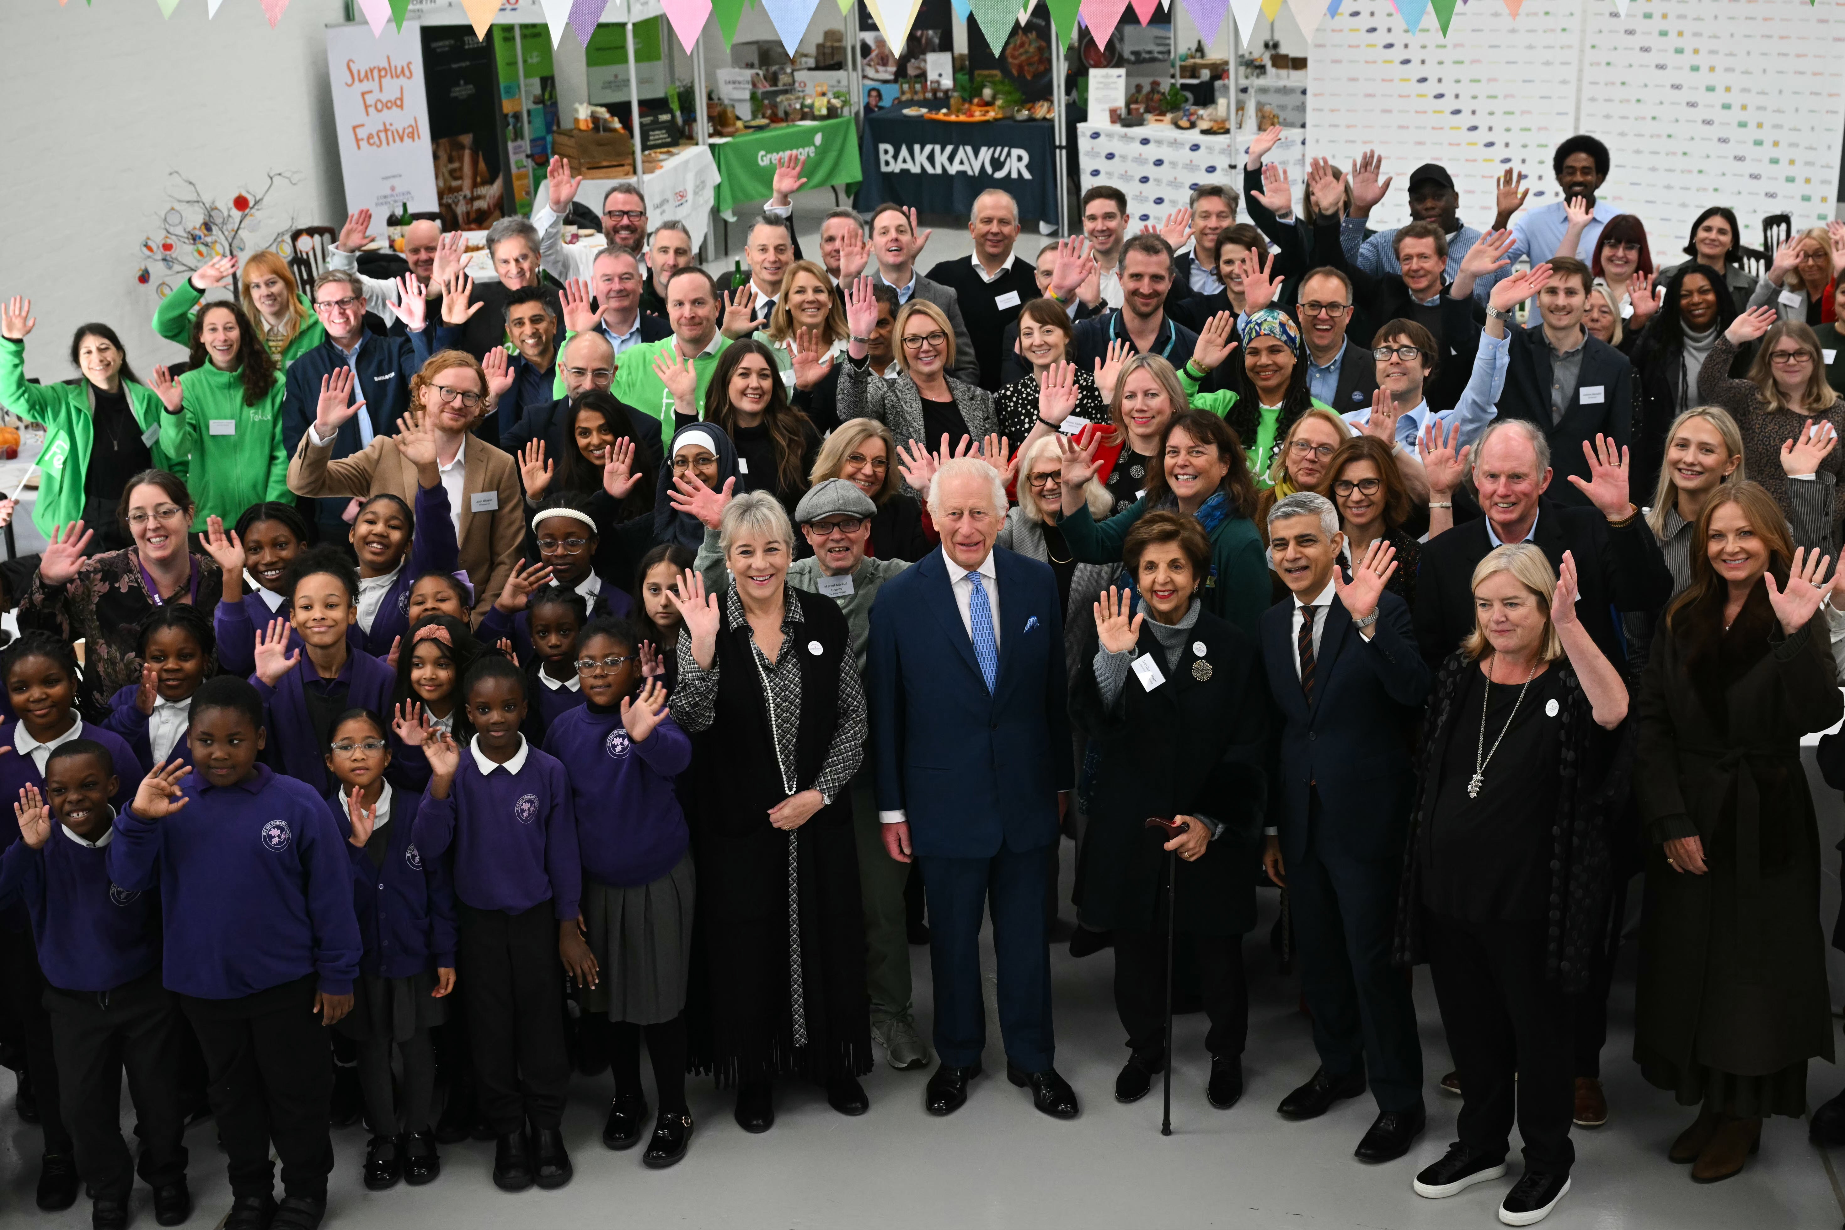
<svg viewBox="0 0 1845 1230">
<path fill-rule="evenodd" d="M 1236 317 L 1220 312 L 1205 323 L 1179 380 L 1197 409 L 1208 409 L 1244 441 L 1249 472 L 1264 476 L 1275 465 L 1275 452 L 1310 406 L 1321 406 L 1306 389 L 1306 363 L 1301 361 L 1301 330 L 1286 312 L 1251 312 L 1242 326 L 1244 361 L 1227 373 L 1227 389 L 1199 393 L 1205 378 L 1229 358 L 1236 343 L 1231 332 Z M 1330 409 L 1330 408 L 1328 408 Z M 1262 481 L 1260 478 L 1256 479 Z"/>
</svg>

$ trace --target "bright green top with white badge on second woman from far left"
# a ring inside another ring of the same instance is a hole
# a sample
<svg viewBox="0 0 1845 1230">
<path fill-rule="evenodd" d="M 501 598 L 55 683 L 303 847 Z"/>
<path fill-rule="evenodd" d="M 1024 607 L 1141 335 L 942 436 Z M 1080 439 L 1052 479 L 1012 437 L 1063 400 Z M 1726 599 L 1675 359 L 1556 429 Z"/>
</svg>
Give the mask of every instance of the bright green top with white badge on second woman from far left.
<svg viewBox="0 0 1845 1230">
<path fill-rule="evenodd" d="M 207 516 L 225 526 L 262 500 L 288 500 L 288 448 L 282 446 L 282 382 L 255 406 L 244 404 L 244 376 L 210 363 L 179 378 L 179 413 L 161 415 L 161 448 L 190 457 L 186 487 L 197 503 L 192 527 Z M 166 409 L 164 406 L 161 408 Z"/>
</svg>

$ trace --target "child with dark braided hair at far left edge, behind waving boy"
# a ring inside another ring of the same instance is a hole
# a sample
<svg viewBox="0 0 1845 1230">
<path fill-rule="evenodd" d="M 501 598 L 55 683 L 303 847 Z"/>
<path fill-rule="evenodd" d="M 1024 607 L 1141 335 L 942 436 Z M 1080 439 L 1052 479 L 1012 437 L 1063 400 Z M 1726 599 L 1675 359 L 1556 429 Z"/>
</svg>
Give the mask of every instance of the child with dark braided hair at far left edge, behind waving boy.
<svg viewBox="0 0 1845 1230">
<path fill-rule="evenodd" d="M 26 633 L 0 655 L 0 679 L 17 717 L 0 721 L 0 798 L 18 798 L 26 786 L 44 786 L 52 752 L 72 739 L 94 739 L 109 749 L 120 778 L 114 806 L 125 806 L 140 778 L 140 762 L 122 736 L 83 721 L 77 714 L 77 660 L 70 645 L 50 633 Z M 18 828 L 0 824 L 0 850 L 18 839 Z M 55 1212 L 77 1200 L 77 1169 L 65 1129 L 57 1088 L 52 1022 L 44 1012 L 44 976 L 31 942 L 31 920 L 18 905 L 0 907 L 0 998 L 15 1012 L 26 1042 L 26 1075 L 39 1099 L 44 1154 L 39 1162 L 39 1208 Z"/>
</svg>

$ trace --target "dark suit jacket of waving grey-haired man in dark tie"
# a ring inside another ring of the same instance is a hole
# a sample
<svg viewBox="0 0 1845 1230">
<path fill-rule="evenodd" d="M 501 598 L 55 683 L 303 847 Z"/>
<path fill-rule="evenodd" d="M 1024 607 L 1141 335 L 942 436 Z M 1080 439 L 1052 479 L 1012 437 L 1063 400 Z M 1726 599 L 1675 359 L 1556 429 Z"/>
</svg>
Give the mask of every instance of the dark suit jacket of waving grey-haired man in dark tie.
<svg viewBox="0 0 1845 1230">
<path fill-rule="evenodd" d="M 1295 660 L 1290 596 L 1262 612 L 1262 662 L 1280 717 L 1280 771 L 1269 802 L 1282 863 L 1306 857 L 1308 795 L 1317 789 L 1315 856 L 1325 863 L 1395 867 L 1415 800 L 1410 736 L 1432 682 L 1410 607 L 1386 592 L 1367 644 L 1334 597 L 1314 656 L 1312 703 L 1301 692 Z"/>
</svg>

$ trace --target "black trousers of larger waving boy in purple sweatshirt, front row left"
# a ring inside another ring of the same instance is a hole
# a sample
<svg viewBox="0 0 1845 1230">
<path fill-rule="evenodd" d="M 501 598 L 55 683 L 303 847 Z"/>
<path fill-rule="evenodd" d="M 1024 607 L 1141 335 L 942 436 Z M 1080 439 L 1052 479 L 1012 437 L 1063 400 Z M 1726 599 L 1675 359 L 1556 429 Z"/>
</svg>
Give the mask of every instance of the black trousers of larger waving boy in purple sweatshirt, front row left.
<svg viewBox="0 0 1845 1230">
<path fill-rule="evenodd" d="M 334 1066 L 314 1011 L 310 974 L 242 999 L 179 996 L 205 1051 L 218 1140 L 231 1156 L 231 1195 L 273 1195 L 269 1143 L 282 1158 L 282 1191 L 327 1199 L 334 1145 L 327 1116 Z"/>
</svg>

